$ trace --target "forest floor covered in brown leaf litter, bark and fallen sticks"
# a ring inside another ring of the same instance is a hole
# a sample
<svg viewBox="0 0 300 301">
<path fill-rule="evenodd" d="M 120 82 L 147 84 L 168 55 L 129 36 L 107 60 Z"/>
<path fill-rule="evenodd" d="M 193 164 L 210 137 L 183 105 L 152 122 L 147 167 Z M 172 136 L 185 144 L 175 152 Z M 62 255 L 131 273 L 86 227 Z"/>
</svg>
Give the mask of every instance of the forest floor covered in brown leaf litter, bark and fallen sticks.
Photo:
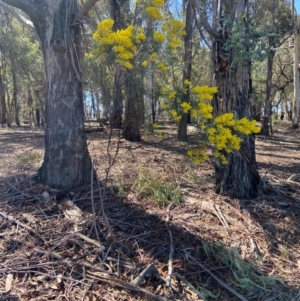
<svg viewBox="0 0 300 301">
<path fill-rule="evenodd" d="M 88 134 L 99 182 L 64 191 L 35 182 L 41 131 L 0 129 L 0 301 L 300 300 L 300 131 L 273 128 L 253 200 L 214 192 L 192 126 L 188 143 L 170 123 Z"/>
</svg>

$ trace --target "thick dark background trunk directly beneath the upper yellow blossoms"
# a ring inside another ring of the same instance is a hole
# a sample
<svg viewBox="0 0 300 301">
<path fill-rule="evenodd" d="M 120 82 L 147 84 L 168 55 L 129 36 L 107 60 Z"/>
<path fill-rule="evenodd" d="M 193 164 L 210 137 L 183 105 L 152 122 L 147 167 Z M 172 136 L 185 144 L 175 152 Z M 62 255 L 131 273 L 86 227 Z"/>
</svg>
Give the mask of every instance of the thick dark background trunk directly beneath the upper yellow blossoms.
<svg viewBox="0 0 300 301">
<path fill-rule="evenodd" d="M 123 137 L 128 141 L 140 141 L 140 105 L 138 99 L 137 85 L 133 72 L 127 71 L 125 78 L 125 122 L 123 129 Z"/>
</svg>

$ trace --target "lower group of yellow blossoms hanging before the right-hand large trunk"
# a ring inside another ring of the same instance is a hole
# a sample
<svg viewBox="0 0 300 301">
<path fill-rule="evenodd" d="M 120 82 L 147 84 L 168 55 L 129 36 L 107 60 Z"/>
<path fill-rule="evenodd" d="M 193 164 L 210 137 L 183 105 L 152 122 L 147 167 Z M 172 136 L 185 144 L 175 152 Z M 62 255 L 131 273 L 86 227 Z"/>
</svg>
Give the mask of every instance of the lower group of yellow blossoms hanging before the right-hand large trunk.
<svg viewBox="0 0 300 301">
<path fill-rule="evenodd" d="M 190 84 L 185 82 L 184 85 Z M 162 92 L 172 100 L 176 96 L 176 92 L 170 92 L 163 88 Z M 200 127 L 205 131 L 207 140 L 214 146 L 213 155 L 219 159 L 223 165 L 227 164 L 227 155 L 233 150 L 239 150 L 242 142 L 242 135 L 250 135 L 259 133 L 260 127 L 256 125 L 256 121 L 250 121 L 247 118 L 235 119 L 233 113 L 225 113 L 217 117 L 213 117 L 213 107 L 210 101 L 213 95 L 217 92 L 216 87 L 196 86 L 191 89 L 192 96 L 196 99 L 196 107 L 191 103 L 182 102 L 179 106 L 179 111 L 172 109 L 172 101 L 161 104 L 161 109 L 169 110 L 171 117 L 175 121 L 180 121 L 182 114 L 189 111 L 193 117 L 198 117 Z M 183 89 L 183 93 L 185 90 Z M 208 159 L 206 154 L 205 144 L 200 144 L 199 147 L 191 149 L 187 152 L 195 164 Z"/>
</svg>

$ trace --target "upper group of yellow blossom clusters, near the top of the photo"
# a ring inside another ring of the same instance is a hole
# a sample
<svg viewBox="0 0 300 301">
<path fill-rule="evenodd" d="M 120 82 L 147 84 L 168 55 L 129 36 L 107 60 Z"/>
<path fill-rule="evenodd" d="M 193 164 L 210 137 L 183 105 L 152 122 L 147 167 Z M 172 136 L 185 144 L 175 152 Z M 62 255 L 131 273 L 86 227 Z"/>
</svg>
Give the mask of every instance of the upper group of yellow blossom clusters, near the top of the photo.
<svg viewBox="0 0 300 301">
<path fill-rule="evenodd" d="M 161 7 L 163 6 L 163 0 L 136 0 L 136 5 L 144 11 L 147 18 L 150 18 L 152 22 L 161 21 L 163 19 L 161 14 Z M 146 68 L 149 63 L 156 63 L 157 68 L 162 71 L 168 71 L 168 67 L 157 60 L 157 51 L 166 42 L 166 46 L 172 51 L 176 50 L 178 46 L 182 45 L 181 37 L 185 33 L 185 25 L 182 21 L 176 19 L 170 19 L 162 23 L 160 31 L 150 31 L 150 36 L 146 37 L 142 27 L 135 28 L 133 25 L 129 25 L 124 29 L 117 31 L 113 30 L 114 21 L 107 19 L 99 22 L 96 32 L 93 35 L 93 39 L 97 42 L 97 49 L 92 51 L 90 56 L 100 55 L 105 58 L 113 53 L 112 61 L 124 66 L 127 69 L 133 68 L 132 60 L 137 53 L 140 53 L 139 46 L 149 39 L 149 43 L 153 47 L 149 51 L 149 57 L 146 58 L 143 54 L 144 60 L 141 62 L 141 66 Z M 154 45 L 155 44 L 155 45 Z M 154 50 L 155 49 L 155 50 Z"/>
</svg>

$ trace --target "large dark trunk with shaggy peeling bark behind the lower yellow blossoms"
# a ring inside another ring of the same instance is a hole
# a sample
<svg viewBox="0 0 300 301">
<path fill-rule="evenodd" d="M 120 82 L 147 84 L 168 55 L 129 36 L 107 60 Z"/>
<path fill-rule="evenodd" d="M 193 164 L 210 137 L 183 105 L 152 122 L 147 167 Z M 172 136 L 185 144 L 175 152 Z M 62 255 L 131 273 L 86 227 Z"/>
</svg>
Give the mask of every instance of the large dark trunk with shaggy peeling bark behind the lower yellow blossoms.
<svg viewBox="0 0 300 301">
<path fill-rule="evenodd" d="M 195 0 L 196 1 L 196 0 Z M 209 3 L 208 3 L 209 2 Z M 251 58 L 249 1 L 212 0 L 194 2 L 200 28 L 211 37 L 214 79 L 218 87 L 215 112 L 233 112 L 236 119 L 251 118 Z M 207 11 L 211 10 L 212 19 Z M 227 155 L 228 164 L 215 161 L 216 191 L 248 199 L 258 193 L 254 136 L 243 136 L 238 152 Z"/>
</svg>

